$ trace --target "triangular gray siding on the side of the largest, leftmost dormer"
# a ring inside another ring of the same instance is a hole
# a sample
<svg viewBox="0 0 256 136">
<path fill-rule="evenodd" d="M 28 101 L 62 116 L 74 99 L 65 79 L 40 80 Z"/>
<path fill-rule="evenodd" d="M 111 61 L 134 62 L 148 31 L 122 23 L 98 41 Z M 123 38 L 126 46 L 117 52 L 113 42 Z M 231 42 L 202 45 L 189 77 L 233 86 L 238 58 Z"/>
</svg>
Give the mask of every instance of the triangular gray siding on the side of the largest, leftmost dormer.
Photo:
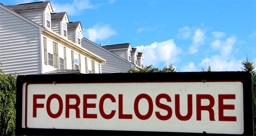
<svg viewBox="0 0 256 136">
<path fill-rule="evenodd" d="M 18 13 L 23 15 L 24 17 L 34 21 L 35 23 L 38 23 L 38 24 L 44 26 L 43 12 L 44 12 L 44 10 L 30 11 L 30 12 L 18 12 Z"/>
</svg>

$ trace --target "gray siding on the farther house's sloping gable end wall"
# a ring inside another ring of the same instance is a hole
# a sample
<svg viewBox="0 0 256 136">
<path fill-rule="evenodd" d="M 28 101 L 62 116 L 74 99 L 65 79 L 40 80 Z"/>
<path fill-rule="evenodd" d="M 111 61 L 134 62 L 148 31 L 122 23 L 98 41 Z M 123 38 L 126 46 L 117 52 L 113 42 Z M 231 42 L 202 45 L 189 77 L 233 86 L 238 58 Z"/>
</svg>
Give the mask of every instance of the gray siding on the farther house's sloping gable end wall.
<svg viewBox="0 0 256 136">
<path fill-rule="evenodd" d="M 98 45 L 94 45 L 86 40 L 82 40 L 81 45 L 83 48 L 107 60 L 106 64 L 101 66 L 102 73 L 127 73 L 133 67 L 127 61 L 105 51 L 100 46 L 97 47 Z"/>
</svg>

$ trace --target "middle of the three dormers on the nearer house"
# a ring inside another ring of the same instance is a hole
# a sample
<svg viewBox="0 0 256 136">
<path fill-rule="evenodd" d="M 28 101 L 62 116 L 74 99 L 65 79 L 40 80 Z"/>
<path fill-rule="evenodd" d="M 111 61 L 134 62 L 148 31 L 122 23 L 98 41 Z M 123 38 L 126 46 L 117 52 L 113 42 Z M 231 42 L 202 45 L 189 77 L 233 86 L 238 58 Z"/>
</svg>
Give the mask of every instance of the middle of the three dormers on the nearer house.
<svg viewBox="0 0 256 136">
<path fill-rule="evenodd" d="M 57 34 L 68 38 L 67 23 L 69 23 L 69 18 L 67 12 L 52 13 L 51 21 L 52 30 Z"/>
</svg>

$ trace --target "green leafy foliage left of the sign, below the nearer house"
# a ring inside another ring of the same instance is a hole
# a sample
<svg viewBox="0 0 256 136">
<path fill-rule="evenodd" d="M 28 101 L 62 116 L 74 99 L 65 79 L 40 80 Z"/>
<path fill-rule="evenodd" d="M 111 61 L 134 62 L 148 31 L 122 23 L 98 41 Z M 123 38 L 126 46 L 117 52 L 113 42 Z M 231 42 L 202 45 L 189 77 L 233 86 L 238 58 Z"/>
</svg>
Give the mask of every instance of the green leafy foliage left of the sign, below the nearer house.
<svg viewBox="0 0 256 136">
<path fill-rule="evenodd" d="M 0 63 L 1 65 L 1 63 Z M 18 74 L 18 73 L 15 73 Z M 16 75 L 0 69 L 0 135 L 15 135 Z"/>
</svg>

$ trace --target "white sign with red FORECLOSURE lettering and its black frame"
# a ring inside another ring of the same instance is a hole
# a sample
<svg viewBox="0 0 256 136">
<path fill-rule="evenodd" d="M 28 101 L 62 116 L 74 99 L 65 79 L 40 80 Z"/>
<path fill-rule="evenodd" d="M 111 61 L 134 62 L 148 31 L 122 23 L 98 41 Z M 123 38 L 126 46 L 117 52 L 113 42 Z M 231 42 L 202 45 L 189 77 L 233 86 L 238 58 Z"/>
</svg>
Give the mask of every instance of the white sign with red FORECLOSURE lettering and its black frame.
<svg viewBox="0 0 256 136">
<path fill-rule="evenodd" d="M 27 75 L 17 80 L 22 135 L 32 130 L 45 135 L 51 135 L 48 130 L 62 130 L 60 135 L 65 130 L 253 134 L 248 72 Z"/>
</svg>

